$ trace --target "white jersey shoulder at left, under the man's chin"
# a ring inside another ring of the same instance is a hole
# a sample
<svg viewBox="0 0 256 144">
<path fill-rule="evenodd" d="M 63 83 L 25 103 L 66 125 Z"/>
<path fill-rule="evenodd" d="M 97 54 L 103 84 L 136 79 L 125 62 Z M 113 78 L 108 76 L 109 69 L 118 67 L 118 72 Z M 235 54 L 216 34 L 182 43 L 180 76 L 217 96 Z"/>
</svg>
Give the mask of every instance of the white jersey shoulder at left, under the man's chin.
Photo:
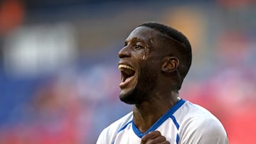
<svg viewBox="0 0 256 144">
<path fill-rule="evenodd" d="M 110 124 L 110 126 L 107 126 L 107 128 L 105 128 L 100 133 L 100 136 L 97 140 L 97 144 L 112 143 L 112 140 L 114 140 L 118 131 L 120 131 L 122 128 L 127 126 L 127 123 L 130 123 L 132 121 L 132 118 L 133 118 L 133 114 L 132 112 L 130 112 L 127 115 L 123 116 L 122 118 L 119 118 L 119 120 L 114 121 L 114 123 Z"/>
</svg>

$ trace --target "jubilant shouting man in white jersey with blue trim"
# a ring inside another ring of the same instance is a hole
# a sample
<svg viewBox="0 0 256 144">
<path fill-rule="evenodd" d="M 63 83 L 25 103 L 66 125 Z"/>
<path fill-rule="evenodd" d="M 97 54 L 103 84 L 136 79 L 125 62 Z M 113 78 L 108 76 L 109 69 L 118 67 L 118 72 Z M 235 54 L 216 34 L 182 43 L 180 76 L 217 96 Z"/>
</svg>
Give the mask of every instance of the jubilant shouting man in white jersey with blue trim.
<svg viewBox="0 0 256 144">
<path fill-rule="evenodd" d="M 105 128 L 97 144 L 228 143 L 213 114 L 178 96 L 192 60 L 182 33 L 161 23 L 142 23 L 118 55 L 119 98 L 133 111 Z"/>
</svg>

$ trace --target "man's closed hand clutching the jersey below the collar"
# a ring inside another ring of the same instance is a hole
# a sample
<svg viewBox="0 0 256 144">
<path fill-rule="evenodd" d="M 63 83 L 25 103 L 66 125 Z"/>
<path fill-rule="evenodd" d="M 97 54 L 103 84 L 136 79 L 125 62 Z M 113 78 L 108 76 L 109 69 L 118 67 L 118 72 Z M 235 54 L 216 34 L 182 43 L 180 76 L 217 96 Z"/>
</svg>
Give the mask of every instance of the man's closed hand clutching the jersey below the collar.
<svg viewBox="0 0 256 144">
<path fill-rule="evenodd" d="M 142 137 L 141 144 L 170 144 L 169 141 L 166 141 L 166 138 L 161 135 L 159 131 L 151 131 L 147 135 Z"/>
</svg>

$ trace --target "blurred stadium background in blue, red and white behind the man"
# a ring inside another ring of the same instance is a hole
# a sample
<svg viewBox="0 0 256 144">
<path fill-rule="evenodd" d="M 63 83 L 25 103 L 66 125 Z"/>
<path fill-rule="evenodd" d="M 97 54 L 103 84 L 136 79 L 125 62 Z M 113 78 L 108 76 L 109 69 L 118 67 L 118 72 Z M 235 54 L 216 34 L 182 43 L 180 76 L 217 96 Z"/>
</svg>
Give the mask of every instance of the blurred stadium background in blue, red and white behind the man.
<svg viewBox="0 0 256 144">
<path fill-rule="evenodd" d="M 218 116 L 231 144 L 256 143 L 255 16 L 255 0 L 1 1 L 0 143 L 95 143 L 131 111 L 117 52 L 144 21 L 191 40 L 181 97 Z"/>
</svg>

